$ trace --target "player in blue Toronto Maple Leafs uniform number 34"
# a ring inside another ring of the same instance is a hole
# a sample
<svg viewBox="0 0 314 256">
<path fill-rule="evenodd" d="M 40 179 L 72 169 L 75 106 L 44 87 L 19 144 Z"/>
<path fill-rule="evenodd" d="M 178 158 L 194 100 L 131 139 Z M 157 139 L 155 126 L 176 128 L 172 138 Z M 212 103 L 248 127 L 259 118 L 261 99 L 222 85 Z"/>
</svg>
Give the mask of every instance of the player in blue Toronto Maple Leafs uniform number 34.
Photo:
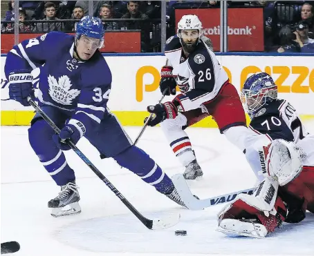
<svg viewBox="0 0 314 256">
<path fill-rule="evenodd" d="M 75 173 L 62 150 L 71 149 L 64 143 L 66 139 L 76 144 L 83 136 L 100 155 L 113 157 L 120 166 L 184 206 L 172 180 L 149 155 L 132 146 L 107 108 L 112 81 L 109 66 L 98 50 L 104 41 L 102 27 L 100 19 L 87 16 L 77 24 L 75 37 L 49 32 L 22 41 L 6 58 L 10 99 L 29 106 L 27 97 L 31 95 L 61 129 L 56 135 L 39 115 L 35 115 L 28 129 L 30 146 L 48 174 L 61 186 L 59 195 L 48 202 L 51 215 L 81 211 Z M 64 210 L 64 206 L 71 207 Z"/>
</svg>

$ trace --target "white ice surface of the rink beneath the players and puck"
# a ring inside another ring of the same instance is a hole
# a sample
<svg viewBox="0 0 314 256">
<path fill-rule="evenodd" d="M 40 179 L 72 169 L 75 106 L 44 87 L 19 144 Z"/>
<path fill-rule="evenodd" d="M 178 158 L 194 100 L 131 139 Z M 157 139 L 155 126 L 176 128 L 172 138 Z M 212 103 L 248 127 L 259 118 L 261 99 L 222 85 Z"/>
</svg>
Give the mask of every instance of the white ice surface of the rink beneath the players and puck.
<svg viewBox="0 0 314 256">
<path fill-rule="evenodd" d="M 314 132 L 314 122 L 310 128 Z M 134 139 L 140 128 L 126 130 Z M 188 128 L 187 133 L 204 171 L 203 180 L 190 181 L 195 195 L 207 198 L 255 185 L 243 154 L 217 129 Z M 50 216 L 47 202 L 59 187 L 30 148 L 27 127 L 2 126 L 1 242 L 19 242 L 21 249 L 14 255 L 314 255 L 312 213 L 265 239 L 226 237 L 215 231 L 223 205 L 185 210 L 112 159 L 101 160 L 85 139 L 77 146 L 143 215 L 181 213 L 181 221 L 165 230 L 148 230 L 74 152 L 66 157 L 80 186 L 82 213 Z M 183 172 L 160 128 L 147 128 L 138 146 L 170 177 Z M 187 230 L 187 236 L 176 237 L 175 230 Z"/>
</svg>

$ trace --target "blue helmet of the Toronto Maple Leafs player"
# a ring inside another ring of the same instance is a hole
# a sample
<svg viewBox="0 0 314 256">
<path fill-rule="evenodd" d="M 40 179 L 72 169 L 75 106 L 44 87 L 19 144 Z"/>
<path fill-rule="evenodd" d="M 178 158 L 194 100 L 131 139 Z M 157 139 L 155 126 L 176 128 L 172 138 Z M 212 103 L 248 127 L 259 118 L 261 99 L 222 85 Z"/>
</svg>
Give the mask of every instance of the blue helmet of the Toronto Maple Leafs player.
<svg viewBox="0 0 314 256">
<path fill-rule="evenodd" d="M 104 27 L 98 17 L 85 16 L 77 24 L 75 39 L 80 39 L 82 35 L 95 39 L 100 39 L 100 46 L 104 43 Z"/>
</svg>

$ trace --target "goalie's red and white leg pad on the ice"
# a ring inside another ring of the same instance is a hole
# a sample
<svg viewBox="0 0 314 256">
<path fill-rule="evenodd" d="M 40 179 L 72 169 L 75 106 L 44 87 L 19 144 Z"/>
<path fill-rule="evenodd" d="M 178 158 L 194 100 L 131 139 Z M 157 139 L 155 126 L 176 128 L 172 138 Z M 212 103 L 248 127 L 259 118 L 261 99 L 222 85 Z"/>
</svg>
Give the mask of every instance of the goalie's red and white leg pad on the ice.
<svg viewBox="0 0 314 256">
<path fill-rule="evenodd" d="M 238 195 L 219 213 L 218 230 L 252 237 L 273 232 L 286 217 L 286 206 L 277 197 L 277 190 L 277 181 L 266 177 L 253 195 Z"/>
</svg>

